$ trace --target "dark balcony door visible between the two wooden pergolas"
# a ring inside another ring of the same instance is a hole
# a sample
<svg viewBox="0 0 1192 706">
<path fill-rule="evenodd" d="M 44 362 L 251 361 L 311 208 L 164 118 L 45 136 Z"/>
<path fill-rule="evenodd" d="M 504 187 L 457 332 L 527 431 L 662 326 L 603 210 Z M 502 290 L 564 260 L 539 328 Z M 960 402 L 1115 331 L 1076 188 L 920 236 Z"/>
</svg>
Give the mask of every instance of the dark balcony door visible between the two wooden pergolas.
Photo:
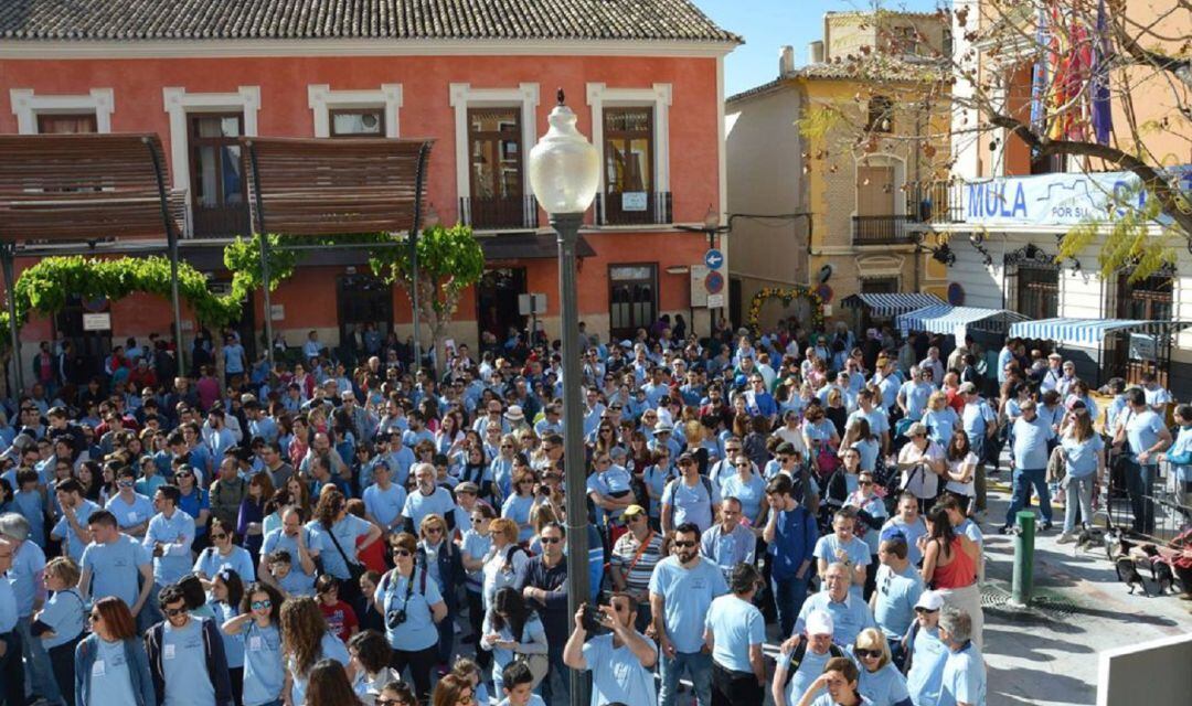
<svg viewBox="0 0 1192 706">
<path fill-rule="evenodd" d="M 190 113 L 187 130 L 194 235 L 247 236 L 248 192 L 236 142 L 243 113 Z"/>
</svg>

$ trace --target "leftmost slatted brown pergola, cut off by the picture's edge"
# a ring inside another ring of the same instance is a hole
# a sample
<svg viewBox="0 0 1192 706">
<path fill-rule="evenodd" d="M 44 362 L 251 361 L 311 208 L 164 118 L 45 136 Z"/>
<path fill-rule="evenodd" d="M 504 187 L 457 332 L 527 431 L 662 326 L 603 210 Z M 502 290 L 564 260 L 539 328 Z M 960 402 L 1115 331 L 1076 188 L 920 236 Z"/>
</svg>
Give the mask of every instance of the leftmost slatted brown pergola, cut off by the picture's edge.
<svg viewBox="0 0 1192 706">
<path fill-rule="evenodd" d="M 95 243 L 137 238 L 164 250 L 170 262 L 174 339 L 181 346 L 178 296 L 178 224 L 170 215 L 166 162 L 156 135 L 0 136 L 0 261 L 8 299 L 8 333 L 17 388 L 24 388 L 17 321 L 17 245 L 23 255 L 50 255 L 41 243 Z"/>
</svg>

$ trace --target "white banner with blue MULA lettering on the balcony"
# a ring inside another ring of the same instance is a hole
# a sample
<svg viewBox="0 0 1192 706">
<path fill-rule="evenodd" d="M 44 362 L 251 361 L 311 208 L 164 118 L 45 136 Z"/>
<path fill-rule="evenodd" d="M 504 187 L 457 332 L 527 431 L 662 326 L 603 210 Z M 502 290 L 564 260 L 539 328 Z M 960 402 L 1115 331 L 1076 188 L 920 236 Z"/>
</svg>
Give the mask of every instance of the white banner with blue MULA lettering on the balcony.
<svg viewBox="0 0 1192 706">
<path fill-rule="evenodd" d="M 1192 169 L 1178 167 L 1180 188 L 1192 192 Z M 1141 207 L 1146 190 L 1130 171 L 1041 174 L 973 181 L 963 185 L 964 223 L 975 225 L 1078 225 L 1106 218 L 1116 199 Z M 1167 217 L 1156 219 L 1169 223 Z"/>
</svg>

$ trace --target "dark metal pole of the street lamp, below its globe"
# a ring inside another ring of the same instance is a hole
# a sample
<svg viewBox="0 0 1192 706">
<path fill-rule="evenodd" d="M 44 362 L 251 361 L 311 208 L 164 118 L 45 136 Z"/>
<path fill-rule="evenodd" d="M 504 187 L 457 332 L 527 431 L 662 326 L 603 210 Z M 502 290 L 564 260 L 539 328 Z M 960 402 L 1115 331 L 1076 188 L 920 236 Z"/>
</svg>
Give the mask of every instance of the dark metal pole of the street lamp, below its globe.
<svg viewBox="0 0 1192 706">
<path fill-rule="evenodd" d="M 567 494 L 567 614 L 575 616 L 589 600 L 588 586 L 588 504 L 583 410 L 581 408 L 579 295 L 576 290 L 576 242 L 583 213 L 551 214 L 551 226 L 559 237 L 559 302 L 563 339 L 563 448 Z M 588 705 L 588 680 L 570 670 L 571 704 Z"/>
</svg>

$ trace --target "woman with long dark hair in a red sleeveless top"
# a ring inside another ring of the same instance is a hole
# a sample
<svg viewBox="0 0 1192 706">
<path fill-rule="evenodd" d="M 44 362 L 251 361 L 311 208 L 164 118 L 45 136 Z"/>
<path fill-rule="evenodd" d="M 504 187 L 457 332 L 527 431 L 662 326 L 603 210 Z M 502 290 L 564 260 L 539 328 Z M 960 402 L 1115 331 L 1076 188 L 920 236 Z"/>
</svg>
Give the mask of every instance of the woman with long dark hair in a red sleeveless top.
<svg viewBox="0 0 1192 706">
<path fill-rule="evenodd" d="M 981 589 L 976 583 L 981 548 L 957 535 L 948 510 L 936 505 L 926 516 L 927 544 L 923 550 L 923 583 L 939 593 L 944 604 L 973 619 L 973 642 L 981 646 Z"/>
</svg>

